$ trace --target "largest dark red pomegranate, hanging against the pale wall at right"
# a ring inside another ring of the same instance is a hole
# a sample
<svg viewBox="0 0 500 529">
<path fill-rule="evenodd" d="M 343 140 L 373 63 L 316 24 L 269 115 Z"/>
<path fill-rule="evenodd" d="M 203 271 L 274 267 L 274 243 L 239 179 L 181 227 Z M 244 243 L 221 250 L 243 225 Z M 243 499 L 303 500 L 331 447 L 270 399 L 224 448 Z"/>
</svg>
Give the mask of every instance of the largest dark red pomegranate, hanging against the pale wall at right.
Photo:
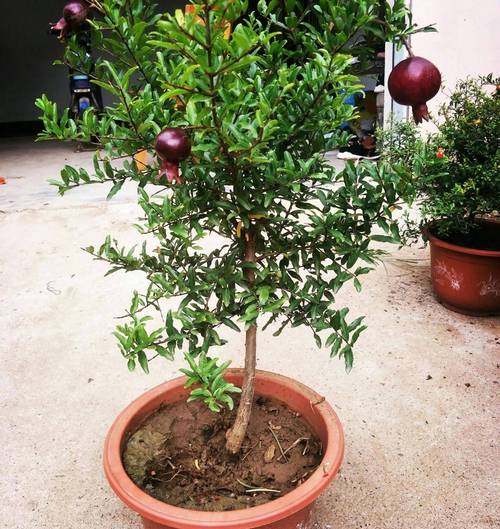
<svg viewBox="0 0 500 529">
<path fill-rule="evenodd" d="M 429 121 L 427 101 L 441 87 L 441 73 L 432 62 L 423 57 L 409 57 L 400 62 L 389 76 L 389 92 L 400 105 L 413 108 L 416 123 Z"/>
</svg>

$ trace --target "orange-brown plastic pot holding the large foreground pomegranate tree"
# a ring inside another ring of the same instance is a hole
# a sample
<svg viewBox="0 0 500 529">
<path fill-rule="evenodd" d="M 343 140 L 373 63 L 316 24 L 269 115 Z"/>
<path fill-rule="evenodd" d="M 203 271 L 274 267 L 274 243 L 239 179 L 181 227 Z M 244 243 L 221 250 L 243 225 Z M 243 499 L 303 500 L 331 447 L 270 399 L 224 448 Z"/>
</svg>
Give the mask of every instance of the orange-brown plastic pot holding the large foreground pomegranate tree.
<svg viewBox="0 0 500 529">
<path fill-rule="evenodd" d="M 241 385 L 243 370 L 231 369 L 227 380 Z M 172 507 L 143 492 L 128 477 L 122 450 L 129 433 L 162 404 L 188 397 L 185 378 L 177 378 L 148 391 L 130 404 L 116 419 L 104 445 L 104 471 L 118 497 L 143 519 L 145 529 L 310 529 L 315 500 L 332 482 L 344 454 L 340 420 L 324 399 L 308 387 L 281 375 L 258 371 L 257 394 L 272 397 L 302 414 L 321 438 L 324 457 L 320 467 L 302 485 L 265 505 L 231 512 L 203 512 Z"/>
</svg>

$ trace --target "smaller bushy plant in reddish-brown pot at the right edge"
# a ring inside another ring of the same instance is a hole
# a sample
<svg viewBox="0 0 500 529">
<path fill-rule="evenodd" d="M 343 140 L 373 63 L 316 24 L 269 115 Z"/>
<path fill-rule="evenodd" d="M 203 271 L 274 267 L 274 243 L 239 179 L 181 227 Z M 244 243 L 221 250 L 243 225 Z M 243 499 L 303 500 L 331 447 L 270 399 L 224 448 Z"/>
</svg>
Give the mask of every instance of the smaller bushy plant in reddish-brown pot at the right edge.
<svg viewBox="0 0 500 529">
<path fill-rule="evenodd" d="M 410 226 L 430 243 L 434 291 L 468 314 L 500 312 L 498 84 L 492 75 L 460 81 L 436 134 L 403 123 L 382 135 L 386 162 L 413 173 L 421 219 Z"/>
</svg>

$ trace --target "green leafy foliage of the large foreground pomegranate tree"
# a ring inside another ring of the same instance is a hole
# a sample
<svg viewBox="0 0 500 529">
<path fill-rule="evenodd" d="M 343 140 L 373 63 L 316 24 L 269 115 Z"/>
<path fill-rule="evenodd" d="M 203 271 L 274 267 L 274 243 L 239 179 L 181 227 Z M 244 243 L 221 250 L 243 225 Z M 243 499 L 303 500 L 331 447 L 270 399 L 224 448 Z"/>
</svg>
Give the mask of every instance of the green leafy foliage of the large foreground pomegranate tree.
<svg viewBox="0 0 500 529">
<path fill-rule="evenodd" d="M 336 294 L 349 281 L 361 288 L 380 255 L 373 241 L 398 240 L 392 212 L 405 182 L 384 164 L 338 172 L 323 154 L 349 139 L 339 125 L 355 112 L 345 98 L 362 89 L 353 72 L 368 54 L 363 35 L 417 31 L 405 3 L 382 3 L 385 25 L 378 0 L 261 1 L 258 16 L 245 1 L 198 1 L 195 14 L 163 16 L 142 0 L 93 4 L 101 57 L 94 82 L 115 104 L 77 123 L 67 112 L 59 117 L 46 98 L 38 106 L 42 139 L 100 147 L 94 174 L 63 169 L 53 182 L 61 194 L 110 183 L 111 198 L 125 181 L 138 184 L 143 245 L 126 249 L 108 237 L 88 249 L 111 272 L 142 271 L 149 281 L 116 331 L 129 368 L 138 362 L 147 371 L 152 357 L 180 350 L 190 381 L 202 385 L 193 396 L 214 410 L 231 405 L 226 366 L 208 353 L 225 343 L 221 328 L 256 324 L 272 324 L 275 335 L 305 325 L 350 368 L 363 318 L 348 319 Z M 65 62 L 90 71 L 76 38 Z M 189 131 L 193 155 L 181 164 L 182 185 L 154 186 L 158 160 L 138 169 L 131 157 L 152 151 L 166 126 Z M 208 235 L 219 238 L 215 247 L 205 243 Z M 245 258 L 249 241 L 255 262 Z M 174 298 L 178 305 L 167 306 Z"/>
</svg>

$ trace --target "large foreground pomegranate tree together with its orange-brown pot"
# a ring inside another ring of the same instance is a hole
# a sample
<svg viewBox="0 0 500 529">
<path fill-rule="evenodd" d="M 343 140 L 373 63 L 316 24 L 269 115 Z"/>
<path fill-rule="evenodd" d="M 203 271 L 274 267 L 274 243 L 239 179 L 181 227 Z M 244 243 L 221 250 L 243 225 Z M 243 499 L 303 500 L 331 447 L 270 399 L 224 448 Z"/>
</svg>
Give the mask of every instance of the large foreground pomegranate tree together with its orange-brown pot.
<svg viewBox="0 0 500 529">
<path fill-rule="evenodd" d="M 108 236 L 87 250 L 111 272 L 147 278 L 115 333 L 129 369 L 186 359 L 183 378 L 118 416 L 108 480 L 146 528 L 309 527 L 342 461 L 342 427 L 313 390 L 257 371 L 258 329 L 307 327 L 352 367 L 363 318 L 336 294 L 361 288 L 381 254 L 373 241 L 399 239 L 392 211 L 406 182 L 386 164 L 337 172 L 323 154 L 349 140 L 340 125 L 362 88 L 362 35 L 416 28 L 404 2 L 381 25 L 378 0 L 261 1 L 258 14 L 207 0 L 165 16 L 143 0 L 82 5 L 94 8 L 103 50 L 94 82 L 115 102 L 75 122 L 38 101 L 42 139 L 99 147 L 93 174 L 65 167 L 53 183 L 61 194 L 109 184 L 110 198 L 138 184 L 143 244 Z M 65 38 L 64 62 L 84 69 L 71 31 Z M 134 163 L 144 150 L 150 163 Z M 228 369 L 213 352 L 240 331 L 244 368 Z"/>
</svg>

